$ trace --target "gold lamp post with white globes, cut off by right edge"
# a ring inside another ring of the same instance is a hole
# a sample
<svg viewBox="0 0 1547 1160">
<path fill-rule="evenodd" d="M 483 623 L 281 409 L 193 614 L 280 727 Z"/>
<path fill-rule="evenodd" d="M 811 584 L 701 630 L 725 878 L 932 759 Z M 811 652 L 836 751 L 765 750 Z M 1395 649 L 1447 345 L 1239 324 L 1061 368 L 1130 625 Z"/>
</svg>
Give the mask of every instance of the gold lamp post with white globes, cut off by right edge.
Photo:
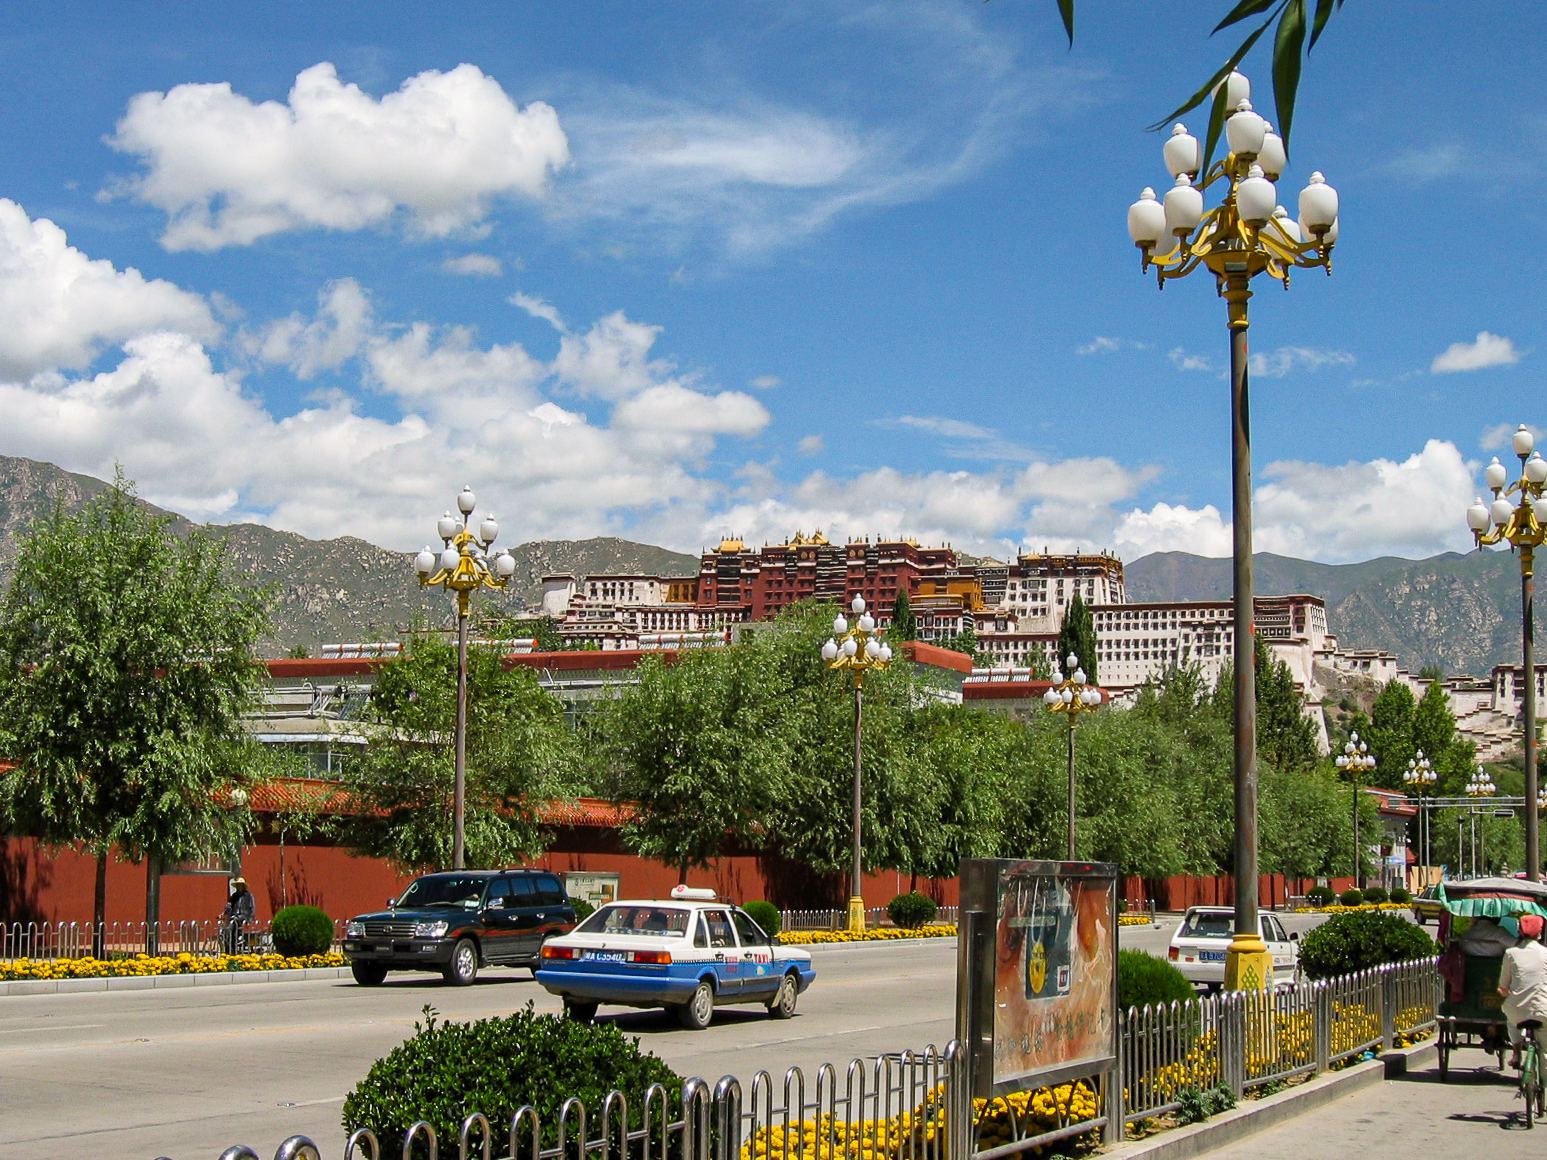
<svg viewBox="0 0 1547 1160">
<path fill-rule="evenodd" d="M 1521 459 L 1521 478 L 1508 483 L 1510 473 L 1502 462 L 1494 458 L 1484 475 L 1488 479 L 1488 490 L 1493 492 L 1493 503 L 1485 504 L 1480 498 L 1473 500 L 1467 509 L 1467 526 L 1471 527 L 1477 551 L 1484 544 L 1508 541 L 1511 548 L 1521 549 L 1521 681 L 1525 685 L 1521 705 L 1521 725 L 1525 749 L 1525 800 L 1536 797 L 1536 634 L 1532 626 L 1535 617 L 1535 580 L 1533 566 L 1536 546 L 1547 540 L 1542 527 L 1542 484 L 1547 483 L 1547 459 L 1535 450 L 1536 439 L 1521 424 L 1510 439 L 1510 445 Z M 1508 486 L 1505 486 L 1508 484 Z M 1511 503 L 1507 496 L 1518 495 Z M 1490 531 L 1491 527 L 1491 531 Z M 1535 810 L 1525 810 L 1525 877 L 1532 882 L 1541 880 L 1541 829 Z"/>
</svg>

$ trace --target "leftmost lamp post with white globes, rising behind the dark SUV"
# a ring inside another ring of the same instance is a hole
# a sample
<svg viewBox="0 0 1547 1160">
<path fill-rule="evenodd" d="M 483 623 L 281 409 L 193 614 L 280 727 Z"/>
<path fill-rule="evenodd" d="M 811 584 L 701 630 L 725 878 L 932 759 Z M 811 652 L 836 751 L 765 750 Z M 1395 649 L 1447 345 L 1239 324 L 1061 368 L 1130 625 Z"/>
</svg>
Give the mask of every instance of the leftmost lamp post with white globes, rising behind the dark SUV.
<svg viewBox="0 0 1547 1160">
<path fill-rule="evenodd" d="M 500 535 L 500 524 L 486 515 L 472 527 L 473 507 L 478 498 L 472 487 L 464 487 L 456 496 L 461 521 L 446 512 L 435 524 L 441 537 L 441 551 L 425 546 L 413 558 L 413 571 L 419 574 L 419 586 L 444 586 L 456 592 L 456 781 L 452 787 L 452 869 L 466 865 L 466 815 L 467 815 L 467 609 L 472 595 L 480 588 L 504 588 L 515 575 L 515 558 L 501 551 L 492 560 L 489 549 Z"/>
</svg>

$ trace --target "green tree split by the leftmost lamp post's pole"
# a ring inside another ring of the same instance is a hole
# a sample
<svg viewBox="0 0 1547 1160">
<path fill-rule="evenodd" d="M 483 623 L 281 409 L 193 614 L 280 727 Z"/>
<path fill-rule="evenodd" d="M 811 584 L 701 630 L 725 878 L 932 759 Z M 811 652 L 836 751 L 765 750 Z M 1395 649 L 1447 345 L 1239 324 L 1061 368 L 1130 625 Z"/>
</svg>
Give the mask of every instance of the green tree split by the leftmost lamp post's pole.
<svg viewBox="0 0 1547 1160">
<path fill-rule="evenodd" d="M 353 820 L 345 841 L 408 871 L 452 857 L 456 647 L 410 637 L 382 668 L 364 756 L 347 770 Z M 579 786 L 575 738 L 563 708 L 498 648 L 467 653 L 466 858 L 498 866 L 543 849 L 541 806 Z"/>
</svg>

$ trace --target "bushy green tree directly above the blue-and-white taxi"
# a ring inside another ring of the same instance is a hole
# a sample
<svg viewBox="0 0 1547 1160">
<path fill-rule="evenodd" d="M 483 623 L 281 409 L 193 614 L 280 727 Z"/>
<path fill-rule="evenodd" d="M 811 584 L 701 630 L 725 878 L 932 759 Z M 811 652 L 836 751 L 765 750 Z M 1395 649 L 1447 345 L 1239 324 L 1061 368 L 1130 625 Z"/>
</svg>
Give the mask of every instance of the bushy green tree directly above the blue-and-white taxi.
<svg viewBox="0 0 1547 1160">
<path fill-rule="evenodd" d="M 687 872 L 755 844 L 789 759 L 781 674 L 750 647 L 647 657 L 639 684 L 606 715 L 619 795 L 637 806 L 623 841 Z"/>
</svg>

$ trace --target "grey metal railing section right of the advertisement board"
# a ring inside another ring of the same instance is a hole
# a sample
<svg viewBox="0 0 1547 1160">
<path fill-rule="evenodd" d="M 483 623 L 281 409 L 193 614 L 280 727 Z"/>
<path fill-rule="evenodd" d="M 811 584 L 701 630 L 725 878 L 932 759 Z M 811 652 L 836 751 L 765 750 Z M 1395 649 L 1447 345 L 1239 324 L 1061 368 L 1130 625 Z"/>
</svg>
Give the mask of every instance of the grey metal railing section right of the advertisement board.
<svg viewBox="0 0 1547 1160">
<path fill-rule="evenodd" d="M 1434 962 L 1129 1008 L 1118 1019 L 1125 1120 L 1174 1111 L 1185 1087 L 1225 1084 L 1239 1097 L 1433 1029 L 1440 996 Z"/>
</svg>

